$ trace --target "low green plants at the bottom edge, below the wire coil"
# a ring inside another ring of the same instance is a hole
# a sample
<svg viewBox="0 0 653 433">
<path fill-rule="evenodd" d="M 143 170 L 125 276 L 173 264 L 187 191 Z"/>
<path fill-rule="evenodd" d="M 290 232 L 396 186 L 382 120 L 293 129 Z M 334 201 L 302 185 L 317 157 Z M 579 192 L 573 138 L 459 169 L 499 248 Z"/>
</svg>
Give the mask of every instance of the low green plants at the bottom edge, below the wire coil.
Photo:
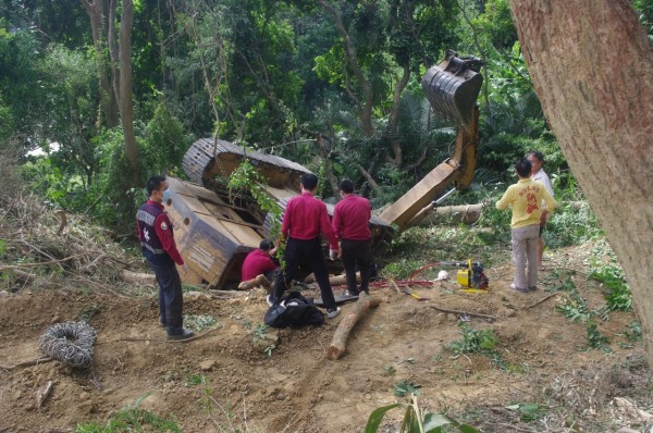
<svg viewBox="0 0 653 433">
<path fill-rule="evenodd" d="M 127 406 L 113 415 L 107 425 L 98 422 L 77 424 L 74 433 L 120 433 L 120 432 L 171 432 L 181 433 L 182 429 L 175 421 L 160 417 L 145 409 L 138 409 L 140 403 L 148 396 L 140 397 L 134 407 Z"/>
</svg>

